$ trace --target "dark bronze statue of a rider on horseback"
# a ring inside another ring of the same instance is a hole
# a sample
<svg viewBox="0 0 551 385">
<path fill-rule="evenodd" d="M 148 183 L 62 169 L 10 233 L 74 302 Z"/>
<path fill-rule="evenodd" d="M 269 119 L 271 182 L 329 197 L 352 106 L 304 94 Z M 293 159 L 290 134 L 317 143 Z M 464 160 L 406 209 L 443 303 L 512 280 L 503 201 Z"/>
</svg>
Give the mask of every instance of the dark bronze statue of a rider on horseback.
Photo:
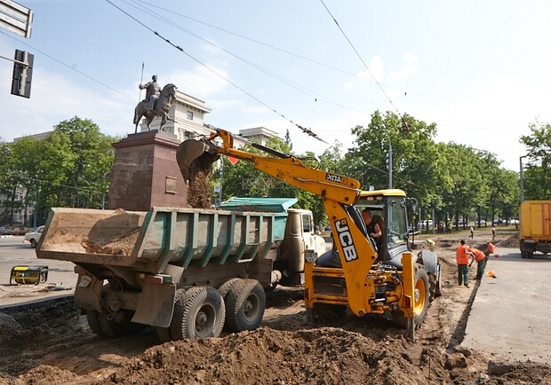
<svg viewBox="0 0 551 385">
<path fill-rule="evenodd" d="M 151 77 L 152 82 L 140 84 L 140 90 L 146 90 L 146 98 L 138 103 L 138 106 L 134 109 L 134 124 L 136 129 L 134 134 L 138 132 L 138 124 L 140 119 L 146 118 L 146 124 L 148 126 L 156 116 L 161 116 L 161 125 L 159 129 L 164 126 L 167 120 L 171 120 L 168 117 L 168 112 L 171 109 L 172 98 L 176 95 L 176 86 L 174 84 L 166 84 L 161 90 L 161 87 L 157 84 L 157 76 Z"/>
</svg>

